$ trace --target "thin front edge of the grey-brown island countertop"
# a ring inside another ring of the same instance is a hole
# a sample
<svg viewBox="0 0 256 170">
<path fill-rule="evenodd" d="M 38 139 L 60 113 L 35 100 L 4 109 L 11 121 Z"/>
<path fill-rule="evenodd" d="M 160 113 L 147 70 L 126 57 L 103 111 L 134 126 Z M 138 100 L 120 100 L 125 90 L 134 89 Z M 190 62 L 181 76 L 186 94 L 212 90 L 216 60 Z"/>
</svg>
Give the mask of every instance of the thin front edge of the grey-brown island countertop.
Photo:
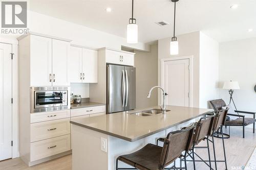
<svg viewBox="0 0 256 170">
<path fill-rule="evenodd" d="M 213 110 L 212 110 L 213 111 Z M 195 117 L 191 117 L 191 118 L 188 118 L 186 120 L 183 120 L 177 124 L 173 124 L 173 125 L 170 125 L 170 126 L 167 126 L 167 127 L 164 127 L 164 128 L 161 128 L 161 129 L 158 129 L 156 131 L 153 131 L 153 132 L 150 132 L 150 133 L 147 133 L 145 135 L 142 135 L 142 136 L 138 136 L 138 137 L 135 137 L 135 138 L 127 138 L 127 137 L 124 137 L 124 136 L 120 136 L 120 135 L 117 135 L 115 133 L 111 133 L 111 132 L 107 132 L 107 131 L 104 131 L 104 130 L 101 130 L 101 129 L 97 129 L 97 128 L 93 128 L 93 127 L 90 127 L 90 126 L 87 126 L 87 125 L 83 125 L 83 124 L 79 124 L 79 123 L 76 123 L 76 122 L 73 122 L 72 120 L 70 120 L 70 123 L 71 124 L 74 124 L 74 125 L 77 125 L 77 126 L 80 126 L 80 127 L 83 127 L 83 128 L 87 128 L 87 129 L 90 129 L 90 130 L 94 130 L 94 131 L 97 131 L 97 132 L 100 132 L 100 133 L 104 133 L 104 134 L 107 134 L 107 135 L 110 135 L 110 136 L 114 136 L 114 137 L 117 137 L 117 138 L 120 138 L 120 139 L 123 139 L 123 140 L 126 140 L 126 141 L 130 141 L 130 142 L 134 142 L 134 141 L 137 141 L 137 140 L 140 140 L 140 139 L 143 139 L 147 136 L 151 136 L 153 134 L 156 134 L 158 132 L 161 132 L 163 130 L 166 130 L 166 129 L 169 129 L 169 128 L 172 128 L 174 126 L 177 126 L 177 125 L 180 125 L 180 124 L 183 124 L 185 122 L 188 122 L 189 120 L 192 120 L 192 119 L 195 119 L 195 118 L 198 118 L 200 116 L 203 116 L 205 114 L 208 114 L 208 113 L 211 113 L 212 111 L 207 111 L 205 113 L 201 113 Z M 115 113 L 113 113 L 115 114 Z"/>
</svg>

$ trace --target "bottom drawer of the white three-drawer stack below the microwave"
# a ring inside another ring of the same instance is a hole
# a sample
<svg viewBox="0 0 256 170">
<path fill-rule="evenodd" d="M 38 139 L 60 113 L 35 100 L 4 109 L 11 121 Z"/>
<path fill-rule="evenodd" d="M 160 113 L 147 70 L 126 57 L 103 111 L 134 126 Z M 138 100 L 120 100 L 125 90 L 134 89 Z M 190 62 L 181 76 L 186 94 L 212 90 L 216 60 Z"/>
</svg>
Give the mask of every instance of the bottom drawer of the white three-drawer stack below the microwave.
<svg viewBox="0 0 256 170">
<path fill-rule="evenodd" d="M 70 150 L 70 134 L 30 143 L 30 161 Z"/>
</svg>

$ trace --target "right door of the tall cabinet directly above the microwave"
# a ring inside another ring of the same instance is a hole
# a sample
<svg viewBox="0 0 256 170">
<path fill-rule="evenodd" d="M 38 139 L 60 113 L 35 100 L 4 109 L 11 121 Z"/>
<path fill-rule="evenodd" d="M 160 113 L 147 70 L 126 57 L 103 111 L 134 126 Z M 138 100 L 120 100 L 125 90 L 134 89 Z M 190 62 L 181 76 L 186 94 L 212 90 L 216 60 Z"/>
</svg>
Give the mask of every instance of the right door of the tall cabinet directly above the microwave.
<svg viewBox="0 0 256 170">
<path fill-rule="evenodd" d="M 68 60 L 70 43 L 52 39 L 52 76 L 53 86 L 68 86 Z"/>
</svg>

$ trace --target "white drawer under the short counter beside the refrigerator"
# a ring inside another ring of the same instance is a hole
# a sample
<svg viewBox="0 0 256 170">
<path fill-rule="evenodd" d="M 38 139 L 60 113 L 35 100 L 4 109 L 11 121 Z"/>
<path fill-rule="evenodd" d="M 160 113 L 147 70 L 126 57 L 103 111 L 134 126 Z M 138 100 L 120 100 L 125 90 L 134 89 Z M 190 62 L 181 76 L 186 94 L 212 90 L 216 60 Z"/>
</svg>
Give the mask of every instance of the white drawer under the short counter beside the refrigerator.
<svg viewBox="0 0 256 170">
<path fill-rule="evenodd" d="M 105 106 L 94 106 L 80 109 L 71 109 L 71 117 L 105 112 Z"/>
</svg>

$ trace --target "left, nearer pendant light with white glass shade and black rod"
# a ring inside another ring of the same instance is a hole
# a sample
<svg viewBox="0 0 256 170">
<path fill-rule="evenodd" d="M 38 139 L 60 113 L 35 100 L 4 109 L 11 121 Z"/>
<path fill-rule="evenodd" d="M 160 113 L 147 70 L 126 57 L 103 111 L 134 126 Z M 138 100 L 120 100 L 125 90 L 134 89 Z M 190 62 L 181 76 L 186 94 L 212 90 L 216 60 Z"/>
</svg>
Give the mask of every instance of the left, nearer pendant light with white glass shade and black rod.
<svg viewBox="0 0 256 170">
<path fill-rule="evenodd" d="M 136 24 L 136 19 L 133 18 L 133 5 L 132 18 L 129 19 L 129 25 L 127 25 L 127 43 L 138 43 L 138 25 Z"/>
</svg>

